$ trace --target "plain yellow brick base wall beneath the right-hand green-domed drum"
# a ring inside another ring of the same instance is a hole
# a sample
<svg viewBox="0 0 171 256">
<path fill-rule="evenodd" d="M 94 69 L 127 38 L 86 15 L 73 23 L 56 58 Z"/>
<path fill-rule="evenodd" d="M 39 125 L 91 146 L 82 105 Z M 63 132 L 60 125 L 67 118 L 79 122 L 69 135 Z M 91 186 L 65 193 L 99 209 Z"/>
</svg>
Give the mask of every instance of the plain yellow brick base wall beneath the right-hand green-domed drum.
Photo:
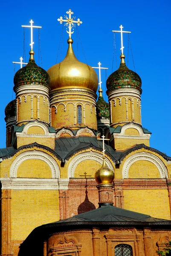
<svg viewBox="0 0 171 256">
<path fill-rule="evenodd" d="M 148 139 L 141 140 L 141 139 L 115 138 L 114 143 L 115 143 L 116 150 L 125 150 L 136 144 L 145 144 L 148 147 L 150 145 Z"/>
</svg>

